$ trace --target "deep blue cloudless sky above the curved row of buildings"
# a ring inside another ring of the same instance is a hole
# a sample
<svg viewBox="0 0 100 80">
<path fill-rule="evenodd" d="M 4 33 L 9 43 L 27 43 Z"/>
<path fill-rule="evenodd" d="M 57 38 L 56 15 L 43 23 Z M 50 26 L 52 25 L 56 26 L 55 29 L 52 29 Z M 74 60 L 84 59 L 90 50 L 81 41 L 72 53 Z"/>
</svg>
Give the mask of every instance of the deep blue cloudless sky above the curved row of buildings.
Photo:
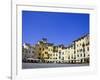
<svg viewBox="0 0 100 80">
<path fill-rule="evenodd" d="M 22 43 L 35 44 L 42 38 L 54 44 L 70 44 L 89 33 L 89 14 L 22 12 Z"/>
</svg>

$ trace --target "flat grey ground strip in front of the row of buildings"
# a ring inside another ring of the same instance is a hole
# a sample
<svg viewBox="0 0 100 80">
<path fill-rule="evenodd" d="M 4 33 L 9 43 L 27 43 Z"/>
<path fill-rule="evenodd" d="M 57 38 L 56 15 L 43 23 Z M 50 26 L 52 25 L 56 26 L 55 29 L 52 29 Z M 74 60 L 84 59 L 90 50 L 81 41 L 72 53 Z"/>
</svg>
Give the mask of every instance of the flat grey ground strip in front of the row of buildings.
<svg viewBox="0 0 100 80">
<path fill-rule="evenodd" d="M 80 66 L 89 66 L 89 64 L 22 63 L 22 69 L 55 68 L 55 67 L 80 67 Z"/>
</svg>

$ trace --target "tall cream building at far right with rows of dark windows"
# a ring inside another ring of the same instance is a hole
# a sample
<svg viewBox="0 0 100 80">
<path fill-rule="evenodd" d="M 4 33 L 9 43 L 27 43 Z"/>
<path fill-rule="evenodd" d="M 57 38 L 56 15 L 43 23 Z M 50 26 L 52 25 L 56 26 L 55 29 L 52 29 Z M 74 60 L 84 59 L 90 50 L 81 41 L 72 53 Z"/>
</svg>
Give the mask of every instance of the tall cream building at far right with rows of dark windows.
<svg viewBox="0 0 100 80">
<path fill-rule="evenodd" d="M 89 63 L 89 34 L 86 34 L 75 42 L 75 56 L 77 63 Z"/>
</svg>

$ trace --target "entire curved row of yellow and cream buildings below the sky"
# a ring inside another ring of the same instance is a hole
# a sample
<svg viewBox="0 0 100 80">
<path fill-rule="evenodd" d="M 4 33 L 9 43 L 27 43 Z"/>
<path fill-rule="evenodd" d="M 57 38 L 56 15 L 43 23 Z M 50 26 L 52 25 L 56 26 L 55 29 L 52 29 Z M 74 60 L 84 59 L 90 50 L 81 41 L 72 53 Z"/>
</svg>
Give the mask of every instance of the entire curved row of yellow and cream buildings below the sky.
<svg viewBox="0 0 100 80">
<path fill-rule="evenodd" d="M 70 45 L 54 45 L 46 38 L 31 46 L 23 44 L 22 58 L 39 59 L 43 63 L 89 63 L 89 34 L 86 34 Z"/>
</svg>

